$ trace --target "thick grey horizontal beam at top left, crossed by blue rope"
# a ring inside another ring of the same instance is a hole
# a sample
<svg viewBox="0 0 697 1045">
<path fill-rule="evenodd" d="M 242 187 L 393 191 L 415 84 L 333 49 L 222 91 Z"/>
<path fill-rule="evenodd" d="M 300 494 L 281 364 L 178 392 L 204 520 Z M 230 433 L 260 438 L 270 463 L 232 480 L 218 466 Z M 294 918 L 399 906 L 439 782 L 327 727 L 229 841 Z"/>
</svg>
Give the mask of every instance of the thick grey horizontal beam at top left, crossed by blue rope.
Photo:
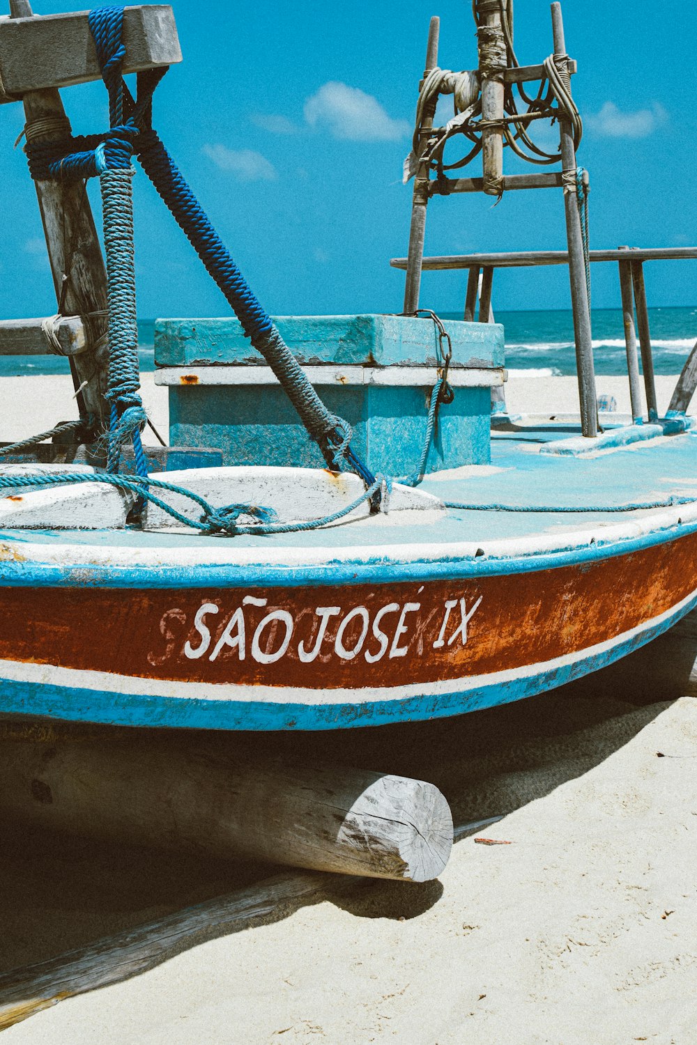
<svg viewBox="0 0 697 1045">
<path fill-rule="evenodd" d="M 168 4 L 125 7 L 123 43 L 126 73 L 182 61 Z M 0 21 L 0 78 L 5 95 L 14 97 L 100 79 L 88 11 Z"/>
</svg>

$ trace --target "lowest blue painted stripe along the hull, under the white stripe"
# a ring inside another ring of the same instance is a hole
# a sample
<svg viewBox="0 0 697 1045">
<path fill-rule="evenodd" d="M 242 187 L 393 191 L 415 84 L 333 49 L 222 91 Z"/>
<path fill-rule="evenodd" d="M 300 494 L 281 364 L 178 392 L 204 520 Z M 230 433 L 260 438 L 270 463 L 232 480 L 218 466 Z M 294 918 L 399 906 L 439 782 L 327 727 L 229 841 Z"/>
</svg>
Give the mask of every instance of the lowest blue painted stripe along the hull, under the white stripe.
<svg viewBox="0 0 697 1045">
<path fill-rule="evenodd" d="M 697 604 L 697 597 L 659 624 L 602 653 L 581 656 L 573 664 L 483 684 L 465 693 L 444 693 L 338 704 L 297 702 L 247 703 L 123 695 L 104 690 L 66 691 L 53 684 L 3 680 L 3 713 L 44 716 L 65 721 L 102 722 L 111 725 L 162 726 L 200 729 L 303 729 L 321 730 L 424 721 L 512 703 L 605 668 L 656 638 Z"/>
</svg>

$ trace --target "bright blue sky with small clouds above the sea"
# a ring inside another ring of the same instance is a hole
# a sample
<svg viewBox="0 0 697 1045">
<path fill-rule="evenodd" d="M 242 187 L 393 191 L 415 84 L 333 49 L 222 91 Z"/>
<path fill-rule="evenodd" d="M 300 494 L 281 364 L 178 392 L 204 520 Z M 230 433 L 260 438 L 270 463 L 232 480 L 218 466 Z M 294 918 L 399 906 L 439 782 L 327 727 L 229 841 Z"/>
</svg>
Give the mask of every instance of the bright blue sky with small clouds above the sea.
<svg viewBox="0 0 697 1045">
<path fill-rule="evenodd" d="M 37 14 L 74 9 L 36 0 Z M 477 64 L 469 0 L 175 2 L 184 62 L 158 88 L 155 125 L 272 314 L 392 311 L 406 253 L 411 185 L 401 184 L 431 15 L 443 68 Z M 565 0 L 566 47 L 586 131 L 591 247 L 689 246 L 695 234 L 694 72 L 675 48 L 697 38 L 697 5 Z M 552 50 L 548 0 L 517 0 L 521 64 Z M 64 92 L 78 133 L 106 125 L 101 85 Z M 0 315 L 54 307 L 36 198 L 21 150 L 21 108 L 0 107 Z M 551 140 L 549 137 L 545 140 Z M 457 146 L 454 146 L 454 154 Z M 477 160 L 468 173 L 478 175 Z M 510 168 L 509 168 L 510 169 Z M 529 170 L 534 168 L 529 167 Z M 137 168 L 138 311 L 226 315 L 227 305 Z M 98 192 L 91 195 L 98 208 Z M 562 249 L 558 191 L 429 206 L 426 253 Z M 649 303 L 694 304 L 695 262 L 646 266 Z M 457 311 L 463 273 L 424 275 L 421 303 Z M 563 269 L 499 273 L 494 306 L 567 307 Z M 613 265 L 594 269 L 594 305 L 619 304 Z"/>
</svg>

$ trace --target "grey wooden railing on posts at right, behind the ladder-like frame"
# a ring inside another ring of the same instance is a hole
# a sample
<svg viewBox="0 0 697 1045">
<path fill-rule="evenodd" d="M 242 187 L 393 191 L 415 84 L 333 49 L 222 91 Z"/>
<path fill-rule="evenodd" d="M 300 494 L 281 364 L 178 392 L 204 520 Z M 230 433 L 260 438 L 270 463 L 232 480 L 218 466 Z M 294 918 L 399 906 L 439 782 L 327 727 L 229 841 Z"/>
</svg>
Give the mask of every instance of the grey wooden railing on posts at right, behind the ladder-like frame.
<svg viewBox="0 0 697 1045">
<path fill-rule="evenodd" d="M 638 348 L 642 355 L 642 371 L 649 421 L 657 420 L 656 385 L 651 348 L 649 311 L 644 282 L 645 261 L 678 261 L 697 259 L 697 247 L 628 248 L 617 250 L 589 251 L 593 262 L 614 261 L 620 275 L 620 293 L 624 324 L 625 348 L 627 352 L 627 373 L 629 396 L 634 423 L 643 420 L 641 379 L 638 372 Z M 406 258 L 392 258 L 393 269 L 406 269 Z M 492 254 L 454 254 L 424 257 L 421 268 L 426 271 L 467 270 L 464 319 L 474 321 L 479 299 L 478 321 L 493 322 L 491 293 L 495 269 L 537 268 L 540 265 L 568 264 L 566 251 L 511 251 Z M 636 323 L 634 323 L 634 310 Z M 684 414 L 697 389 L 697 341 L 686 362 L 671 397 L 668 414 Z"/>
</svg>

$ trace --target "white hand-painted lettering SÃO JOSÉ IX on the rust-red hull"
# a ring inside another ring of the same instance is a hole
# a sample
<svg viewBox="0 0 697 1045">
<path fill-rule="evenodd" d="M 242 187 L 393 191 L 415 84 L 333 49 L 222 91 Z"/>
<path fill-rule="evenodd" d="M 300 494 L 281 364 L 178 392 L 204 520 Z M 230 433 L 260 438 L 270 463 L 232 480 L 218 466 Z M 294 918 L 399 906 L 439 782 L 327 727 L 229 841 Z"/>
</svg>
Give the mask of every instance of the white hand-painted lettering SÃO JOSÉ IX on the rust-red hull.
<svg viewBox="0 0 697 1045">
<path fill-rule="evenodd" d="M 481 597 L 473 602 L 446 599 L 425 622 L 420 621 L 419 602 L 390 602 L 374 610 L 355 606 L 347 612 L 341 606 L 317 606 L 310 611 L 309 628 L 305 625 L 302 629 L 303 638 L 298 637 L 294 614 L 287 609 L 269 609 L 266 599 L 245 596 L 227 620 L 220 619 L 216 603 L 205 602 L 195 612 L 182 651 L 191 660 L 236 656 L 239 660 L 250 657 L 257 664 L 275 664 L 287 655 L 301 664 L 311 664 L 333 654 L 342 660 L 363 657 L 367 664 L 375 664 L 382 657 L 406 656 L 415 646 L 418 652 L 423 652 L 424 645 L 435 650 L 464 646 L 467 625 L 481 602 Z M 260 610 L 264 612 L 259 619 Z M 184 616 L 181 610 L 169 612 Z M 307 612 L 302 617 L 306 618 Z M 163 634 L 167 617 L 160 626 Z"/>
</svg>

